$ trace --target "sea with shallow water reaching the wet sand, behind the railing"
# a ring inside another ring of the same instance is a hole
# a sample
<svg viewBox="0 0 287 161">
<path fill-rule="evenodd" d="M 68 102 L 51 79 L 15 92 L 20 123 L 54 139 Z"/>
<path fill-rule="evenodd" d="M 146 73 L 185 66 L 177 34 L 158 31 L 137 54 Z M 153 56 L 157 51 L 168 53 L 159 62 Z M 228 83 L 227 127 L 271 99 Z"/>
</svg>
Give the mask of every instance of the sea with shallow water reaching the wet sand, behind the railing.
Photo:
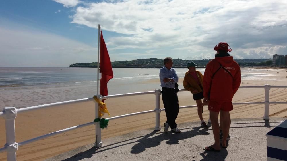
<svg viewBox="0 0 287 161">
<path fill-rule="evenodd" d="M 188 69 L 176 68 L 183 79 Z M 205 68 L 197 68 L 204 74 Z M 272 80 L 275 69 L 241 68 L 242 80 Z M 113 68 L 108 94 L 160 89 L 159 69 Z M 101 73 L 99 74 L 101 75 Z M 179 84 L 179 88 L 183 88 Z M 97 94 L 96 68 L 0 67 L 0 110 L 90 98 Z"/>
</svg>

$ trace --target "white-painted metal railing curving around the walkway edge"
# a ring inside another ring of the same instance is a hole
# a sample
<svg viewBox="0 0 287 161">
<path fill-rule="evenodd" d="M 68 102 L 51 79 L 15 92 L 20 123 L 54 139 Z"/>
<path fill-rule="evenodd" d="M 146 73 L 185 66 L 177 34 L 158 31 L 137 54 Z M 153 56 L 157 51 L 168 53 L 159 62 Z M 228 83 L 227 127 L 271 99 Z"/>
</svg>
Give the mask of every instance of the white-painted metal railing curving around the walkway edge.
<svg viewBox="0 0 287 161">
<path fill-rule="evenodd" d="M 270 102 L 269 101 L 269 91 L 271 89 L 270 85 L 265 85 L 265 86 L 240 86 L 239 88 L 264 88 L 265 89 L 265 101 L 264 102 L 238 102 L 238 103 L 233 103 L 234 105 L 239 105 L 239 104 L 264 104 L 265 105 L 265 111 L 264 111 L 264 120 L 269 120 L 269 104 L 287 104 L 287 102 Z M 272 86 L 272 88 L 287 88 L 287 86 Z M 185 89 L 179 90 L 179 92 L 187 91 Z M 117 98 L 117 97 L 127 97 L 127 96 L 136 96 L 136 95 L 145 95 L 145 94 L 155 94 L 156 96 L 156 104 L 155 104 L 155 109 L 154 110 L 149 110 L 149 111 L 142 111 L 142 112 L 136 112 L 132 114 L 125 114 L 121 116 L 115 116 L 111 118 L 107 118 L 108 120 L 114 120 L 118 118 L 123 118 L 123 117 L 128 117 L 128 116 L 133 116 L 133 115 L 139 115 L 139 114 L 146 114 L 146 113 L 151 113 L 155 112 L 156 114 L 156 124 L 154 129 L 155 130 L 161 130 L 160 127 L 160 112 L 163 109 L 160 109 L 160 94 L 161 90 L 160 89 L 155 89 L 154 91 L 148 91 L 148 92 L 136 92 L 136 93 L 127 93 L 127 94 L 116 94 L 116 95 L 108 95 L 108 96 L 101 96 L 99 95 L 98 98 L 100 100 L 102 99 L 107 99 L 107 98 Z M 57 103 L 52 103 L 52 104 L 45 104 L 45 105 L 39 105 L 39 106 L 32 106 L 32 107 L 27 107 L 27 108 L 20 108 L 16 109 L 15 107 L 5 107 L 3 108 L 3 111 L 0 112 L 0 116 L 3 116 L 5 118 L 5 129 L 6 129 L 6 144 L 4 145 L 3 148 L 0 148 L 0 152 L 7 151 L 7 160 L 16 160 L 16 150 L 18 150 L 19 146 L 29 144 L 31 142 L 35 142 L 37 140 L 41 140 L 53 135 L 61 134 L 63 132 L 67 132 L 70 130 L 75 130 L 78 128 L 82 128 L 85 126 L 90 126 L 95 124 L 96 125 L 96 142 L 95 142 L 95 147 L 100 147 L 102 146 L 102 141 L 101 141 L 101 128 L 100 128 L 100 122 L 89 122 L 86 124 L 81 124 L 73 127 L 69 127 L 66 129 L 62 129 L 59 131 L 51 132 L 49 134 L 45 134 L 42 136 L 38 136 L 36 138 L 32 138 L 20 143 L 17 143 L 15 140 L 15 118 L 17 116 L 17 113 L 20 112 L 26 112 L 30 110 L 36 110 L 38 108 L 48 108 L 48 107 L 53 107 L 57 105 L 67 105 L 75 102 L 88 102 L 94 100 L 94 98 L 83 98 L 83 99 L 77 99 L 77 100 L 70 100 L 70 101 L 64 101 L 64 102 L 57 102 Z M 197 105 L 193 106 L 181 106 L 180 108 L 191 108 L 191 107 L 197 107 Z M 96 117 L 98 116 L 98 103 L 96 103 Z M 210 122 L 210 120 L 208 121 Z"/>
</svg>

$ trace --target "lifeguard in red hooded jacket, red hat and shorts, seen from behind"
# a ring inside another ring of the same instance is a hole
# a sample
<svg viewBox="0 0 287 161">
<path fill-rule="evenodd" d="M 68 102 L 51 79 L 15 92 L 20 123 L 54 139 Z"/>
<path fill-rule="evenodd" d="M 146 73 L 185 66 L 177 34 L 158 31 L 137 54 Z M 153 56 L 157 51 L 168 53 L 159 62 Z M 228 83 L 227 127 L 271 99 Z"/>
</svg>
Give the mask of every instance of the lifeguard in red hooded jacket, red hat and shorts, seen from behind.
<svg viewBox="0 0 287 161">
<path fill-rule="evenodd" d="M 203 102 L 208 103 L 210 120 L 214 135 L 214 144 L 204 148 L 206 151 L 220 151 L 220 144 L 227 147 L 226 139 L 231 124 L 229 111 L 233 109 L 232 98 L 238 90 L 241 82 L 239 65 L 228 54 L 227 43 L 219 43 L 214 47 L 217 51 L 215 58 L 206 65 L 203 76 Z M 218 114 L 222 119 L 222 141 L 219 140 Z"/>
</svg>

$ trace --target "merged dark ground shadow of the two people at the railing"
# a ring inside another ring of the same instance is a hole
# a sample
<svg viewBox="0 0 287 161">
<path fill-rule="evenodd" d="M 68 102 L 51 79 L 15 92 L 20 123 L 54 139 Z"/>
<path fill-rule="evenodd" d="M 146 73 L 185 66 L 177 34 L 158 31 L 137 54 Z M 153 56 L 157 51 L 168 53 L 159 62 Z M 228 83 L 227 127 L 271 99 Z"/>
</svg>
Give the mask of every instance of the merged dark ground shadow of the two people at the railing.
<svg viewBox="0 0 287 161">
<path fill-rule="evenodd" d="M 209 135 L 207 132 L 208 129 L 200 129 L 199 127 L 192 128 L 190 131 L 185 131 L 181 133 L 173 133 L 169 131 L 168 133 L 162 132 L 160 135 L 153 136 L 157 131 L 153 131 L 150 134 L 147 134 L 143 138 L 137 140 L 137 144 L 135 144 L 131 149 L 131 153 L 139 154 L 144 152 L 146 148 L 151 148 L 160 145 L 160 143 L 164 140 L 166 144 L 179 144 L 179 140 L 192 138 L 197 135 Z M 151 138 L 150 138 L 151 137 Z"/>
</svg>

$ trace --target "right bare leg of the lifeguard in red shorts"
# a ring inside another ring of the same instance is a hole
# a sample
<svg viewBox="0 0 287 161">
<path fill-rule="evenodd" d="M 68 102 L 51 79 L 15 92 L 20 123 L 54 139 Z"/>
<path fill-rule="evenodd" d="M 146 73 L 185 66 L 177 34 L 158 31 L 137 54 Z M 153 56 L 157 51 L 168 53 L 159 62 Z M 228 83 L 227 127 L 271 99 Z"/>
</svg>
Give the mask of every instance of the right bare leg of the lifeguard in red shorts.
<svg viewBox="0 0 287 161">
<path fill-rule="evenodd" d="M 226 146 L 226 139 L 227 139 L 227 136 L 229 134 L 229 128 L 230 128 L 230 124 L 231 124 L 231 120 L 230 120 L 230 114 L 229 114 L 229 111 L 220 111 L 220 114 L 222 115 L 221 118 L 222 118 L 222 141 L 221 141 L 221 144 L 222 146 Z M 221 121 L 221 119 L 220 119 Z"/>
</svg>

